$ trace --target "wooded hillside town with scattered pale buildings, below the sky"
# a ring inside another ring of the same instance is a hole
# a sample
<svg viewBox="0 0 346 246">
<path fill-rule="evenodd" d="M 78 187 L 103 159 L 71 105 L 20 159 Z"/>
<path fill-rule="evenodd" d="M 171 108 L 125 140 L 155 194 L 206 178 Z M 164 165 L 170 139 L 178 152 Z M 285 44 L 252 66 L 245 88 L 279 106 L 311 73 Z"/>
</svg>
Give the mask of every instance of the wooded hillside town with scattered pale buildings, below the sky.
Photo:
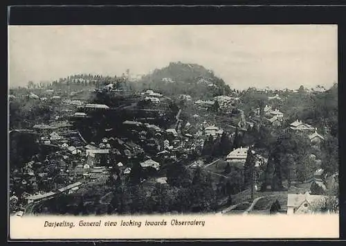
<svg viewBox="0 0 346 246">
<path fill-rule="evenodd" d="M 10 212 L 338 212 L 337 85 L 239 91 L 194 68 L 10 89 Z"/>
</svg>

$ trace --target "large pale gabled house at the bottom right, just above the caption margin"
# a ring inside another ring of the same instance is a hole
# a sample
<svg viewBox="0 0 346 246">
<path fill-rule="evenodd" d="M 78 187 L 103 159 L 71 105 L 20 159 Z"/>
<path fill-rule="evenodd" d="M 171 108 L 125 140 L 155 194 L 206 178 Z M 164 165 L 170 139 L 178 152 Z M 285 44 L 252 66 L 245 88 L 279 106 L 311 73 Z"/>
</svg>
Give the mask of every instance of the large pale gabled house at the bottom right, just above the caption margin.
<svg viewBox="0 0 346 246">
<path fill-rule="evenodd" d="M 325 195 L 311 195 L 309 192 L 304 194 L 288 194 L 287 215 L 312 213 L 313 206 L 318 202 L 322 202 L 325 198 Z"/>
</svg>

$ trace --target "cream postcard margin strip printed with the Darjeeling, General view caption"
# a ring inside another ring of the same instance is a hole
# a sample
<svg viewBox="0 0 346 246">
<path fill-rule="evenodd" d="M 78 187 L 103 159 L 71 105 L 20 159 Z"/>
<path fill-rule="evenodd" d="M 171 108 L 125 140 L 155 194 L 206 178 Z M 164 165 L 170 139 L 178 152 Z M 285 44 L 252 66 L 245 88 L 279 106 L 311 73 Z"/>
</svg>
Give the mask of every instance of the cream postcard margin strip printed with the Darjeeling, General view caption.
<svg viewBox="0 0 346 246">
<path fill-rule="evenodd" d="M 10 216 L 9 227 L 10 240 L 338 238 L 339 216 Z"/>
</svg>

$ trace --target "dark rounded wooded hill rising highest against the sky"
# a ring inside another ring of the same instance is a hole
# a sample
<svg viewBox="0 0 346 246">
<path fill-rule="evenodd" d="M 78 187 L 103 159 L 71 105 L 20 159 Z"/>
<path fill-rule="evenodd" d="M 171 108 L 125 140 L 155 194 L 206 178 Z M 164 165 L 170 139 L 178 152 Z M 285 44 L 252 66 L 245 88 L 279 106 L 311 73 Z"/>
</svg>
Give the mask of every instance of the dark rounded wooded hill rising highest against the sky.
<svg viewBox="0 0 346 246">
<path fill-rule="evenodd" d="M 140 89 L 154 89 L 168 96 L 190 94 L 195 98 L 208 98 L 230 94 L 224 80 L 199 64 L 171 62 L 163 69 L 155 69 L 143 76 L 137 86 Z"/>
</svg>

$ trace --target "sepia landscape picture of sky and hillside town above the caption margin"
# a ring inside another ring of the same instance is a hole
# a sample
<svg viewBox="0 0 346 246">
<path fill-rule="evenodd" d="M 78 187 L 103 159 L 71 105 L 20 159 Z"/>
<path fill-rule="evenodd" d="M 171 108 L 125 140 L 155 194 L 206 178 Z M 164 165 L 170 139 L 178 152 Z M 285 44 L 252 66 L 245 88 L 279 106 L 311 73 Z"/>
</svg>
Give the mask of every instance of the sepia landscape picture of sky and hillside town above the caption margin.
<svg viewBox="0 0 346 246">
<path fill-rule="evenodd" d="M 338 215 L 336 25 L 8 26 L 8 73 L 11 218 Z"/>
</svg>

